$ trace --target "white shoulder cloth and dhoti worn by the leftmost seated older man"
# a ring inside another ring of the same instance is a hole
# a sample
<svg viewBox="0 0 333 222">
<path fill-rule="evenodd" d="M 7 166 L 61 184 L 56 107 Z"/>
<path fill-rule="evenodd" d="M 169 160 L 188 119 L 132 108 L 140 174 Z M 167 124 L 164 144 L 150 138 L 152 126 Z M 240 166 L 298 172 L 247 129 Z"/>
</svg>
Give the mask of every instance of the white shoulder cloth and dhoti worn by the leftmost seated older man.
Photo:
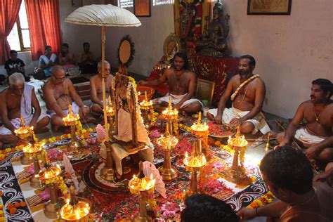
<svg viewBox="0 0 333 222">
<path fill-rule="evenodd" d="M 25 124 L 27 126 L 30 125 L 32 117 L 34 117 L 34 114 L 32 113 L 32 91 L 34 90 L 34 86 L 30 86 L 28 84 L 25 84 L 25 89 L 23 90 L 23 94 L 21 96 L 20 101 L 20 115 L 22 115 L 23 119 L 25 120 Z M 46 113 L 42 113 L 38 119 L 37 122 L 39 122 L 44 117 L 50 117 Z M 21 126 L 21 119 L 15 118 L 11 119 L 11 124 L 18 129 Z M 7 129 L 6 126 L 2 125 L 0 127 L 0 134 L 1 135 L 8 135 L 11 134 L 12 131 L 10 129 Z"/>
</svg>

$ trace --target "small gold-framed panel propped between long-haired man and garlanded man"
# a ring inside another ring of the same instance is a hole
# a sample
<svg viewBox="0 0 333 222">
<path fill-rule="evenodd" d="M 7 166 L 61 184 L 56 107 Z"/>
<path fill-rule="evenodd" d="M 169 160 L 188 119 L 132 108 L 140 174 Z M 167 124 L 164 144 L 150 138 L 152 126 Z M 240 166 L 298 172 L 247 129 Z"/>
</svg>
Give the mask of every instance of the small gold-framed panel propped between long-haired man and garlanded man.
<svg viewBox="0 0 333 222">
<path fill-rule="evenodd" d="M 195 98 L 198 100 L 208 100 L 208 104 L 211 105 L 211 102 L 213 101 L 214 89 L 215 81 L 197 79 Z"/>
</svg>

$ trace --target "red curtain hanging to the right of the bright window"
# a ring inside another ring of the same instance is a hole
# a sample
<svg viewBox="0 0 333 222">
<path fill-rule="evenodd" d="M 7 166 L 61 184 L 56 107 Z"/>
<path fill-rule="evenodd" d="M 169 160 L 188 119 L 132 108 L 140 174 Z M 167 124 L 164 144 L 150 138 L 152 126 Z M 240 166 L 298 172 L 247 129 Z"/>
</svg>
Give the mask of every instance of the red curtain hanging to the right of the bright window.
<svg viewBox="0 0 333 222">
<path fill-rule="evenodd" d="M 61 31 L 58 0 L 25 0 L 30 28 L 32 60 L 38 60 L 45 46 L 53 53 L 61 48 Z"/>
</svg>

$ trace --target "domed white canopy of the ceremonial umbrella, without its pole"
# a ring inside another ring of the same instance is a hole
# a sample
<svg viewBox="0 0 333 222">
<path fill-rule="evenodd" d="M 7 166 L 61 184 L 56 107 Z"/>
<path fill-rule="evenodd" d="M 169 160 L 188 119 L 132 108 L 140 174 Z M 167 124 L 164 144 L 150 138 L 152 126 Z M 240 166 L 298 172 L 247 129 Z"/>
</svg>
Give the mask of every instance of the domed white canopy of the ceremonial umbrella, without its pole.
<svg viewBox="0 0 333 222">
<path fill-rule="evenodd" d="M 65 18 L 65 22 L 77 25 L 135 27 L 141 22 L 130 11 L 112 5 L 90 5 L 77 8 Z"/>
</svg>

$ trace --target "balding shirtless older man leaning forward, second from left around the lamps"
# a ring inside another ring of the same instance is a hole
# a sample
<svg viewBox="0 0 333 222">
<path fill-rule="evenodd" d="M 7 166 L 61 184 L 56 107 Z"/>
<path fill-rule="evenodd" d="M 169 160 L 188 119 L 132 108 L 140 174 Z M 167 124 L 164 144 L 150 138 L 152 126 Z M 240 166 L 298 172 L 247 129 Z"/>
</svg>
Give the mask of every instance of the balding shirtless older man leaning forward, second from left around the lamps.
<svg viewBox="0 0 333 222">
<path fill-rule="evenodd" d="M 60 126 L 64 126 L 63 117 L 68 114 L 68 106 L 72 105 L 74 115 L 79 113 L 81 120 L 90 113 L 88 106 L 84 105 L 77 91 L 75 91 L 72 81 L 65 77 L 65 70 L 60 65 L 55 65 L 52 69 L 51 78 L 43 86 L 46 107 L 51 116 L 51 124 L 55 131 Z M 94 118 L 86 118 L 86 122 L 93 122 Z"/>
</svg>

